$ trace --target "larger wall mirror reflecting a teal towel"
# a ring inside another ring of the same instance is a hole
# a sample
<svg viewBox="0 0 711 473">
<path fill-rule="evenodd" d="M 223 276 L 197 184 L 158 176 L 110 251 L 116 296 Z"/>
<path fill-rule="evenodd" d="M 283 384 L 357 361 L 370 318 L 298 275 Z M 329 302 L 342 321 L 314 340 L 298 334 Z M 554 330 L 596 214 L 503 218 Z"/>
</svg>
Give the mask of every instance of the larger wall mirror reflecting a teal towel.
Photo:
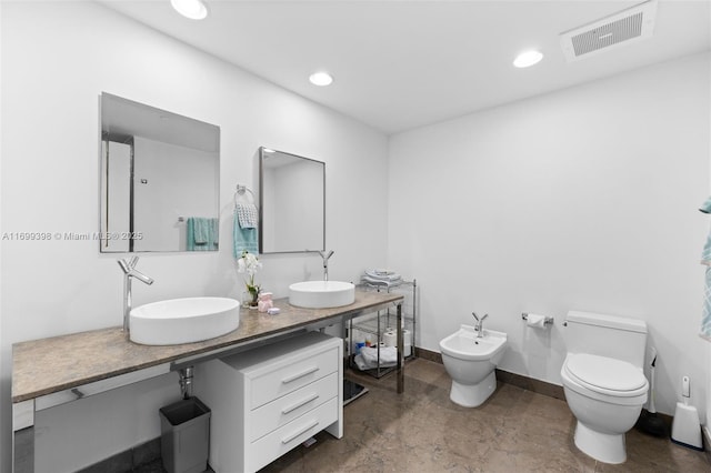
<svg viewBox="0 0 711 473">
<path fill-rule="evenodd" d="M 217 251 L 220 128 L 101 94 L 101 252 Z"/>
</svg>

